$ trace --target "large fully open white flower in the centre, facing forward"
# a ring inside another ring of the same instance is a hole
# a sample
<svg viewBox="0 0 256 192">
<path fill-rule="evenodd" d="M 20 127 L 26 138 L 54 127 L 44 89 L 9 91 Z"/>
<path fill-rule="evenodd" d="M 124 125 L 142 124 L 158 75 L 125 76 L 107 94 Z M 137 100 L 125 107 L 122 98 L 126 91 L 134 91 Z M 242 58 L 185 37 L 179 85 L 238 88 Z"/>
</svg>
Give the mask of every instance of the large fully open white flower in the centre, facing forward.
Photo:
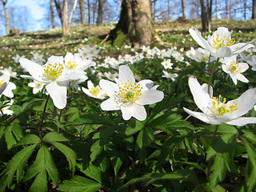
<svg viewBox="0 0 256 192">
<path fill-rule="evenodd" d="M 129 120 L 131 117 L 139 121 L 146 119 L 144 105 L 162 101 L 162 91 L 155 90 L 154 82 L 142 80 L 135 82 L 134 74 L 129 66 L 119 67 L 118 83 L 100 80 L 99 86 L 110 97 L 102 102 L 102 110 L 121 110 L 122 118 Z M 153 88 L 153 89 L 152 89 Z"/>
</svg>

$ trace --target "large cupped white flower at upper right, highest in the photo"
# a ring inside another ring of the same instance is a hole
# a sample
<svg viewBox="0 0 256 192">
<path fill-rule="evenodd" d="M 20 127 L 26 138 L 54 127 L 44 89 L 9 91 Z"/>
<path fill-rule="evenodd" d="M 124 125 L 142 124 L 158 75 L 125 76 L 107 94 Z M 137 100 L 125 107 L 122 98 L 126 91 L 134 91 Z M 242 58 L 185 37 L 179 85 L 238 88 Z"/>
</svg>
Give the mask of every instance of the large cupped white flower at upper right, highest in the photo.
<svg viewBox="0 0 256 192">
<path fill-rule="evenodd" d="M 249 43 L 237 43 L 234 44 L 233 38 L 231 38 L 230 31 L 226 27 L 218 27 L 212 36 L 208 36 L 207 41 L 202 38 L 202 34 L 196 30 L 189 30 L 190 35 L 194 38 L 194 41 L 198 42 L 199 46 L 208 50 L 212 55 L 217 58 L 226 58 L 234 54 L 239 54 L 244 50 L 247 50 L 254 45 Z"/>
</svg>

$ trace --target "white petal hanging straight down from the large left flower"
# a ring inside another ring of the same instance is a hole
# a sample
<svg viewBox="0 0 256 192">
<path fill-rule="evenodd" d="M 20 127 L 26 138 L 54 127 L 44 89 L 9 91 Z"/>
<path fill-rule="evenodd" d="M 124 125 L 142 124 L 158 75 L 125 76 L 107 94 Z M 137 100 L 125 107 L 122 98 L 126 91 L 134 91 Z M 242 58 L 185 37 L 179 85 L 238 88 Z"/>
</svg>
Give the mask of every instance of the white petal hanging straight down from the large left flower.
<svg viewBox="0 0 256 192">
<path fill-rule="evenodd" d="M 46 85 L 46 90 L 53 99 L 54 106 L 60 110 L 66 106 L 66 86 L 58 86 L 57 82 L 50 82 Z"/>
</svg>

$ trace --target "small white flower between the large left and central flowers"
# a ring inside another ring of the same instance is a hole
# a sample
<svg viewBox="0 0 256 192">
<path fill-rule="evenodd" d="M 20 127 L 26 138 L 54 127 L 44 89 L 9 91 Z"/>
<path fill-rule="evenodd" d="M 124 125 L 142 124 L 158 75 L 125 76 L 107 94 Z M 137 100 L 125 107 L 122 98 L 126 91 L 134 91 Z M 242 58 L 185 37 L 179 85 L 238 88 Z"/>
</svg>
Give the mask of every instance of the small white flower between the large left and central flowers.
<svg viewBox="0 0 256 192">
<path fill-rule="evenodd" d="M 100 86 L 94 86 L 91 81 L 87 82 L 88 89 L 82 87 L 82 91 L 92 98 L 104 99 L 106 98 L 105 92 L 101 89 Z"/>
</svg>

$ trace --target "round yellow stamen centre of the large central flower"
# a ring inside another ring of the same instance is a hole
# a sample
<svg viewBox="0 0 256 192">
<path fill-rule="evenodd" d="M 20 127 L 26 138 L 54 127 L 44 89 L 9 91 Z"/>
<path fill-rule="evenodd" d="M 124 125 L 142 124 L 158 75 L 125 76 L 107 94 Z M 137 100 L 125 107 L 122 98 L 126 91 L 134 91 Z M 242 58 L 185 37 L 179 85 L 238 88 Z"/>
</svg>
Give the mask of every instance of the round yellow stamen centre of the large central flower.
<svg viewBox="0 0 256 192">
<path fill-rule="evenodd" d="M 119 87 L 120 93 L 118 95 L 121 97 L 122 102 L 135 102 L 138 100 L 139 96 L 142 95 L 142 87 L 137 84 L 126 83 Z"/>
</svg>

